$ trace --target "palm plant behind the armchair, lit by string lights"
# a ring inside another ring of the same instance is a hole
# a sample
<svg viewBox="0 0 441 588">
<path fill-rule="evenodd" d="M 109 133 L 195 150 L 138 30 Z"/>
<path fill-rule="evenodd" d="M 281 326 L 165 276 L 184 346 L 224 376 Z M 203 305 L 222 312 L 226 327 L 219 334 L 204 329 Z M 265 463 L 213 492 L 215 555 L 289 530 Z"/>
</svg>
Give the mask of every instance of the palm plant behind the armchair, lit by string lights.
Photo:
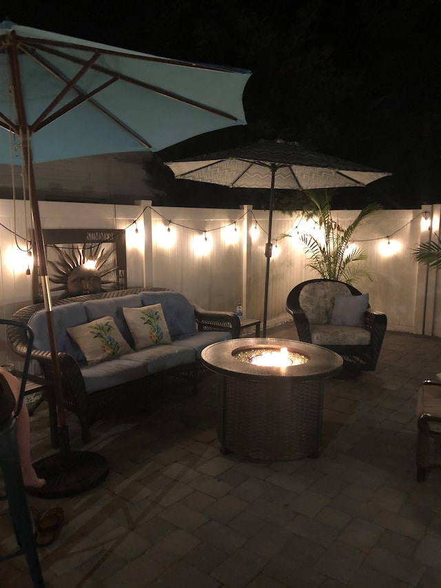
<svg viewBox="0 0 441 588">
<path fill-rule="evenodd" d="M 351 237 L 356 228 L 367 216 L 381 210 L 381 206 L 371 203 L 363 208 L 357 218 L 348 226 L 342 227 L 334 221 L 331 212 L 329 194 L 325 192 L 309 191 L 309 199 L 314 204 L 318 214 L 318 224 L 323 230 L 324 239 L 314 234 L 303 234 L 300 239 L 309 252 L 307 267 L 311 267 L 322 278 L 340 280 L 347 284 L 356 283 L 360 278 L 369 278 L 371 274 L 360 262 L 366 261 L 367 254 L 360 247 L 349 247 Z M 349 248 L 348 248 L 349 247 Z"/>
</svg>

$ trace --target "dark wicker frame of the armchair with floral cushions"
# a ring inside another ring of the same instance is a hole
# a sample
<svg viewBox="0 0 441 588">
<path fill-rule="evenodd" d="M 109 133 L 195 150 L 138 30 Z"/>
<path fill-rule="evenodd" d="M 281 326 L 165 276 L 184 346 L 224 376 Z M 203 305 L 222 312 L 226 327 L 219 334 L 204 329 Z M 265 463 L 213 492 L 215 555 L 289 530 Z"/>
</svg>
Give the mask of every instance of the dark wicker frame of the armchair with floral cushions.
<svg viewBox="0 0 441 588">
<path fill-rule="evenodd" d="M 291 314 L 294 320 L 299 340 L 305 341 L 305 343 L 312 343 L 311 330 L 309 329 L 308 317 L 300 307 L 300 292 L 307 284 L 325 281 L 343 283 L 338 280 L 326 280 L 324 278 L 307 280 L 296 285 L 287 296 L 287 312 Z M 353 296 L 360 296 L 362 294 L 356 287 L 347 283 L 344 284 Z M 386 332 L 387 316 L 382 312 L 372 310 L 369 306 L 366 311 L 365 320 L 365 328 L 371 333 L 371 342 L 369 345 L 323 345 L 323 347 L 331 349 L 331 351 L 342 356 L 343 367 L 345 369 L 356 371 L 373 371 L 376 369 L 382 341 Z"/>
</svg>

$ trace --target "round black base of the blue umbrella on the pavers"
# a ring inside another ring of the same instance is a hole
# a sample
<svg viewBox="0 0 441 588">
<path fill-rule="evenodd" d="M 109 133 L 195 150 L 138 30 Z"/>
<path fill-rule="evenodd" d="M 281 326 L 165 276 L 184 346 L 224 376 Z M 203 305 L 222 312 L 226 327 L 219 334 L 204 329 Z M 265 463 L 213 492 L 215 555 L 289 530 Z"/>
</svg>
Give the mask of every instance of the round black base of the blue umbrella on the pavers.
<svg viewBox="0 0 441 588">
<path fill-rule="evenodd" d="M 107 460 L 93 452 L 54 454 L 32 465 L 37 476 L 46 483 L 41 488 L 26 488 L 26 491 L 40 498 L 76 496 L 98 486 L 109 473 Z"/>
</svg>

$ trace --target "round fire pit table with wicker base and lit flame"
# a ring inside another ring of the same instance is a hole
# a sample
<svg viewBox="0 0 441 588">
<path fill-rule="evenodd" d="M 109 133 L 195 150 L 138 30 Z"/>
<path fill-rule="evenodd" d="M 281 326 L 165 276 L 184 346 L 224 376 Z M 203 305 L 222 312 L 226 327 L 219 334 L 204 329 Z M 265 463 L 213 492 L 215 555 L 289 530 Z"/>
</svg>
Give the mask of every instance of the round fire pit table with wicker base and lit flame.
<svg viewBox="0 0 441 588">
<path fill-rule="evenodd" d="M 287 348 L 289 365 L 257 365 Z M 242 338 L 205 347 L 202 363 L 218 375 L 220 451 L 267 461 L 317 457 L 323 381 L 342 369 L 329 349 L 276 338 Z"/>
</svg>

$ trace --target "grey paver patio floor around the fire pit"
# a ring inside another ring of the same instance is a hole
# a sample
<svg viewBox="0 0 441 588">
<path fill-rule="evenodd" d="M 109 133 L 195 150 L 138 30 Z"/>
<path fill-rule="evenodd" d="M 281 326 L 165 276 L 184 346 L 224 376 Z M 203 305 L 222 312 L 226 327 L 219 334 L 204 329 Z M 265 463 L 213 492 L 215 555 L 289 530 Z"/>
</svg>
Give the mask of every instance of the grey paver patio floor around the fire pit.
<svg viewBox="0 0 441 588">
<path fill-rule="evenodd" d="M 267 331 L 293 337 L 292 323 Z M 83 445 L 110 475 L 61 506 L 68 523 L 39 550 L 48 587 L 433 588 L 441 586 L 441 469 L 416 482 L 416 393 L 441 372 L 441 340 L 387 332 L 376 372 L 325 383 L 317 459 L 261 463 L 220 454 L 216 381 L 168 387 L 105 414 Z M 160 394 L 161 393 L 161 394 Z M 32 454 L 50 451 L 48 411 Z M 14 547 L 6 506 L 0 554 Z M 23 557 L 0 587 L 31 586 Z"/>
</svg>

